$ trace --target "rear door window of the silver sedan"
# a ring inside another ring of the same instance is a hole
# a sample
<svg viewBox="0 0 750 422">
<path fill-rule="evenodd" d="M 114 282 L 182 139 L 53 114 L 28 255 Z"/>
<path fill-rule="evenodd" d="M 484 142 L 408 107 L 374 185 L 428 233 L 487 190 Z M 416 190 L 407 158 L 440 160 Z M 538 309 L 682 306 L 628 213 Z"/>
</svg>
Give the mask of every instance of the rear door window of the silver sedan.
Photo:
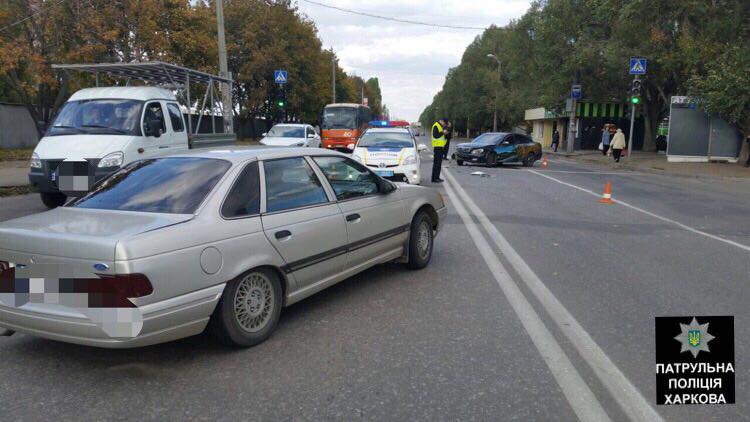
<svg viewBox="0 0 750 422">
<path fill-rule="evenodd" d="M 320 180 L 302 157 L 263 162 L 266 211 L 276 212 L 328 202 Z"/>
</svg>

